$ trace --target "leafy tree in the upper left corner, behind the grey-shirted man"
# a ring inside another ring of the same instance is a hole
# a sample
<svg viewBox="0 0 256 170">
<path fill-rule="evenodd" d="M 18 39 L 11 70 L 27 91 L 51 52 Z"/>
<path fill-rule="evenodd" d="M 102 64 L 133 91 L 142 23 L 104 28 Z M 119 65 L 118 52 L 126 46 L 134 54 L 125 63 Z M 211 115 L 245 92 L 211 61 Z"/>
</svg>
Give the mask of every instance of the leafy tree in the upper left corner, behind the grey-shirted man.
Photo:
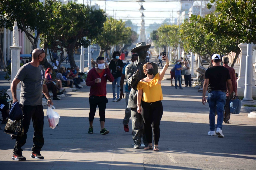
<svg viewBox="0 0 256 170">
<path fill-rule="evenodd" d="M 39 34 L 47 30 L 45 25 L 48 21 L 43 4 L 38 0 L 1 0 L 0 25 L 12 30 L 14 21 L 26 34 L 33 49 L 37 48 Z M 35 30 L 37 35 L 33 32 Z"/>
</svg>

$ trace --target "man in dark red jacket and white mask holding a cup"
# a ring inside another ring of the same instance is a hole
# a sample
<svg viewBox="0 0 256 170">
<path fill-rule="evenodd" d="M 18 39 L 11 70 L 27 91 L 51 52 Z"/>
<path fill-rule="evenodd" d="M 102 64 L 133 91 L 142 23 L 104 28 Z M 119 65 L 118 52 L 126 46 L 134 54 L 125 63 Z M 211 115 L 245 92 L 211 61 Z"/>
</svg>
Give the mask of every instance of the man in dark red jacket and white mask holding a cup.
<svg viewBox="0 0 256 170">
<path fill-rule="evenodd" d="M 112 76 L 108 64 L 104 62 L 104 57 L 97 57 L 96 60 L 97 67 L 91 69 L 88 72 L 86 78 L 86 85 L 91 86 L 90 89 L 90 113 L 89 113 L 89 122 L 90 127 L 88 133 L 93 134 L 93 119 L 95 116 L 96 108 L 99 107 L 99 114 L 100 114 L 100 122 L 101 122 L 101 135 L 106 135 L 109 133 L 105 125 L 105 110 L 108 99 L 106 98 L 107 94 L 107 80 L 110 82 L 114 81 L 114 77 Z M 105 69 L 103 69 L 105 66 Z"/>
</svg>

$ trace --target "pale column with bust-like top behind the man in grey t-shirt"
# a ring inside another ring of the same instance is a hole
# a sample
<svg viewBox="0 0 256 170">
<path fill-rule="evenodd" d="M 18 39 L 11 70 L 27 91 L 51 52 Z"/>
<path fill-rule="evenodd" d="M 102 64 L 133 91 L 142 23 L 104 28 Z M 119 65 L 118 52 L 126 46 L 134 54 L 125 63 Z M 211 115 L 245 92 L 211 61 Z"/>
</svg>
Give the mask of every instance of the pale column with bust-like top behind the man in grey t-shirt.
<svg viewBox="0 0 256 170">
<path fill-rule="evenodd" d="M 18 32 L 18 26 L 17 22 L 14 22 L 13 26 L 13 46 L 10 47 L 11 49 L 11 82 L 15 78 L 19 68 L 20 68 L 20 50 L 21 46 L 19 46 L 19 32 Z M 20 100 L 20 88 L 19 84 L 17 84 L 17 99 Z M 12 98 L 12 92 L 11 89 L 7 90 L 7 94 Z"/>
</svg>

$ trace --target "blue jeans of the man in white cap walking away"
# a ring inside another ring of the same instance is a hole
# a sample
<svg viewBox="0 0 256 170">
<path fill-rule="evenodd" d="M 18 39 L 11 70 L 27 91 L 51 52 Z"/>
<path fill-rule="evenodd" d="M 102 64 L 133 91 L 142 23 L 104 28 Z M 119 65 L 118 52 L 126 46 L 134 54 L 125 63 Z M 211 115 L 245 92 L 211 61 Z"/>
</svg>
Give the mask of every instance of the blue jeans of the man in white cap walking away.
<svg viewBox="0 0 256 170">
<path fill-rule="evenodd" d="M 215 128 L 219 127 L 222 129 L 222 122 L 223 122 L 223 111 L 224 106 L 226 104 L 226 93 L 222 91 L 211 91 L 208 93 L 207 102 L 209 103 L 210 114 L 209 114 L 209 121 L 210 121 L 210 130 L 214 131 Z M 218 119 L 217 119 L 217 126 L 215 126 L 215 112 L 217 111 Z"/>
</svg>

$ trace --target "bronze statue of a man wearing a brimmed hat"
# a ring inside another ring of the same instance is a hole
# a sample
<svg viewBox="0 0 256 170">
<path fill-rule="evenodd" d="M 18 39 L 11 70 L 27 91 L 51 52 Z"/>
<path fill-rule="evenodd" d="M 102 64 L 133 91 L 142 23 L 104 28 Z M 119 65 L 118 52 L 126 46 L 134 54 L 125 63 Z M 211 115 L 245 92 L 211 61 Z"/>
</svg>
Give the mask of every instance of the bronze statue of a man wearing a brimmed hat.
<svg viewBox="0 0 256 170">
<path fill-rule="evenodd" d="M 143 72 L 143 65 L 149 61 L 146 60 L 147 51 L 151 44 L 146 45 L 145 42 L 139 42 L 136 44 L 136 47 L 131 50 L 131 52 L 136 52 L 139 55 L 138 60 L 129 64 L 125 68 L 125 76 L 128 82 L 128 86 L 132 87 L 132 90 L 129 95 L 129 101 L 127 108 L 131 108 L 131 118 L 132 118 L 132 127 L 133 127 L 133 141 L 134 148 L 140 149 L 141 146 L 141 137 L 143 137 L 143 143 L 145 147 L 148 146 L 147 140 L 144 134 L 144 123 L 143 118 L 140 113 L 137 112 L 137 84 L 138 82 L 145 78 L 146 75 Z M 157 74 L 158 68 L 157 64 L 152 63 L 154 68 L 154 75 Z"/>
</svg>

